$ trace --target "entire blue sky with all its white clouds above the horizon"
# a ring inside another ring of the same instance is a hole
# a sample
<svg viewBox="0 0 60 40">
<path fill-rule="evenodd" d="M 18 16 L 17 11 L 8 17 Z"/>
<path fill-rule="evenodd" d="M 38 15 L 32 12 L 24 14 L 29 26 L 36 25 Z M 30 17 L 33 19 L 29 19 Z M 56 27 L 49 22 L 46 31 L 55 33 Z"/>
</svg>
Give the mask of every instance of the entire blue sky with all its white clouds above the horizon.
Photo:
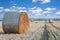
<svg viewBox="0 0 60 40">
<path fill-rule="evenodd" d="M 60 18 L 60 0 L 0 0 L 0 19 L 11 10 L 25 11 L 30 18 Z"/>
</svg>

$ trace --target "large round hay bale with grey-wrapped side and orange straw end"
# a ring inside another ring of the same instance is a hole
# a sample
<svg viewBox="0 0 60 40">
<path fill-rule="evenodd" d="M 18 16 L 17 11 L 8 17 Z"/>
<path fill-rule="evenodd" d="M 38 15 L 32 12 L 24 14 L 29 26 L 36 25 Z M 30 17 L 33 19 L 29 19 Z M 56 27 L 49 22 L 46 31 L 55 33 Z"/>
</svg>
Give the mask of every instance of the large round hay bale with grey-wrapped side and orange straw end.
<svg viewBox="0 0 60 40">
<path fill-rule="evenodd" d="M 29 27 L 28 15 L 26 12 L 6 12 L 2 25 L 5 33 L 26 34 Z"/>
</svg>

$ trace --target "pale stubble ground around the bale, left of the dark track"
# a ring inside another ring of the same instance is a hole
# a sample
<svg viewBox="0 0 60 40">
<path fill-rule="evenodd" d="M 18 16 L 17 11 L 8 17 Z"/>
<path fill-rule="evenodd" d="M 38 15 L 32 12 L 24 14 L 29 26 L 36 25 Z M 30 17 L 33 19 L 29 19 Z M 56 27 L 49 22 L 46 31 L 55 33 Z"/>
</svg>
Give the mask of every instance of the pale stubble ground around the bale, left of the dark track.
<svg viewBox="0 0 60 40">
<path fill-rule="evenodd" d="M 27 34 L 2 34 L 0 32 L 0 40 L 39 40 L 44 31 L 44 22 L 45 21 L 35 21 L 30 22 L 30 27 Z M 0 28 L 2 29 L 2 22 L 0 22 Z M 0 30 L 1 30 L 0 29 Z"/>
</svg>

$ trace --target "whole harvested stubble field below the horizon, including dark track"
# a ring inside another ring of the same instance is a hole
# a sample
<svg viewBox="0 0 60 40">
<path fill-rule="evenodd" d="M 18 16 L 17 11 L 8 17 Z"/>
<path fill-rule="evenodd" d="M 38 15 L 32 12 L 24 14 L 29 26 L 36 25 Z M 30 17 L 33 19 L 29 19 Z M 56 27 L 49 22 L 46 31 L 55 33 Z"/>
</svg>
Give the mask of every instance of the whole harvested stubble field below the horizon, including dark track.
<svg viewBox="0 0 60 40">
<path fill-rule="evenodd" d="M 0 21 L 0 40 L 59 40 L 60 21 L 30 21 L 27 34 L 4 34 Z"/>
</svg>

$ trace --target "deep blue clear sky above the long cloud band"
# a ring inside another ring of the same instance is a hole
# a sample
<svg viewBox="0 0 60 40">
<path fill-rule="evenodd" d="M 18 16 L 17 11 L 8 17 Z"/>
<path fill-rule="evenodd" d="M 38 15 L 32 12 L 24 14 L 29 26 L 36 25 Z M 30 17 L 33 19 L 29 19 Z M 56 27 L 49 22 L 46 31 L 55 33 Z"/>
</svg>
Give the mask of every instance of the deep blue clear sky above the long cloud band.
<svg viewBox="0 0 60 40">
<path fill-rule="evenodd" d="M 9 8 L 16 4 L 16 6 L 22 6 L 22 7 L 41 7 L 41 8 L 46 8 L 46 7 L 55 7 L 57 9 L 60 9 L 60 0 L 51 0 L 49 3 L 41 4 L 42 2 L 32 2 L 32 0 L 0 0 L 0 6 Z"/>
</svg>

